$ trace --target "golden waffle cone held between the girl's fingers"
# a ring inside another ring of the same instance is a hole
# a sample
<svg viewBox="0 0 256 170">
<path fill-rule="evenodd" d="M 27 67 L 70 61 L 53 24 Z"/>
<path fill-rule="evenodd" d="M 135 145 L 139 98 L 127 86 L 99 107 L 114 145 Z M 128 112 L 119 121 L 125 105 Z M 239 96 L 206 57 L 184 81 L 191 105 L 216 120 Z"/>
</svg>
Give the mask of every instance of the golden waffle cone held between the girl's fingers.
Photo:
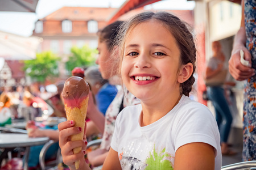
<svg viewBox="0 0 256 170">
<path fill-rule="evenodd" d="M 81 133 L 75 134 L 75 135 L 71 136 L 71 141 L 79 141 L 79 140 L 82 140 L 83 137 L 84 137 L 84 126 L 85 126 L 85 118 L 86 118 L 86 112 L 87 112 L 87 107 L 88 107 L 88 99 L 89 99 L 89 96 L 86 97 L 82 101 L 80 108 L 77 108 L 77 107 L 74 107 L 74 108 L 67 107 L 67 105 L 65 104 L 67 120 L 75 121 L 75 126 L 74 127 L 82 128 Z M 73 148 L 73 153 L 77 154 L 81 150 L 82 150 L 82 147 Z M 76 169 L 79 168 L 79 164 L 80 164 L 80 160 L 75 162 Z"/>
</svg>

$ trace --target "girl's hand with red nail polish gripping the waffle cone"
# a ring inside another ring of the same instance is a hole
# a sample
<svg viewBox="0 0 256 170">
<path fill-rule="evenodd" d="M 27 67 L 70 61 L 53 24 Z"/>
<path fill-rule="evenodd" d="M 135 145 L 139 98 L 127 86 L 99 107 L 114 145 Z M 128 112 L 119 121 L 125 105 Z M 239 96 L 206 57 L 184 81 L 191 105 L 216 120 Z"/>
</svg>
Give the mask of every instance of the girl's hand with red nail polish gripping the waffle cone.
<svg viewBox="0 0 256 170">
<path fill-rule="evenodd" d="M 79 134 L 81 131 L 79 128 L 73 127 L 75 125 L 74 121 L 65 121 L 61 122 L 58 125 L 60 131 L 59 135 L 59 146 L 61 148 L 61 155 L 63 156 L 63 162 L 69 166 L 70 169 L 75 168 L 75 162 L 80 160 L 80 166 L 83 167 L 85 163 L 84 155 L 86 150 L 86 123 L 85 123 L 85 132 L 84 132 L 84 141 L 71 141 L 71 135 Z M 82 147 L 82 151 L 78 154 L 73 154 L 73 148 Z"/>
</svg>

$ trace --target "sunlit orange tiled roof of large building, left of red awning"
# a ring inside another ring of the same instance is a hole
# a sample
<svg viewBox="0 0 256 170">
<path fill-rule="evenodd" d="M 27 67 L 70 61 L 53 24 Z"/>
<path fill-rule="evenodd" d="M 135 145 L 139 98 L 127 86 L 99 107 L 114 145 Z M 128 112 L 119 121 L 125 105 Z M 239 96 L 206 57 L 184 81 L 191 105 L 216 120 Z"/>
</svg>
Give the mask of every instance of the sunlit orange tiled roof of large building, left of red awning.
<svg viewBox="0 0 256 170">
<path fill-rule="evenodd" d="M 106 20 L 117 8 L 62 7 L 40 20 Z"/>
</svg>

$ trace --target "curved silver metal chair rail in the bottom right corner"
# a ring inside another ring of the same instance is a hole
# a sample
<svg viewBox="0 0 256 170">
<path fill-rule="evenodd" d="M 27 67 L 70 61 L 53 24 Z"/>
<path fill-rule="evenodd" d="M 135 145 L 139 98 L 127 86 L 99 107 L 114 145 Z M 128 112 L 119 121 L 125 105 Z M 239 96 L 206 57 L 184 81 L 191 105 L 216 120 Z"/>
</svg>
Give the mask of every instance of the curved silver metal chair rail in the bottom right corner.
<svg viewBox="0 0 256 170">
<path fill-rule="evenodd" d="M 221 170 L 256 169 L 256 160 L 240 162 L 221 167 Z"/>
</svg>

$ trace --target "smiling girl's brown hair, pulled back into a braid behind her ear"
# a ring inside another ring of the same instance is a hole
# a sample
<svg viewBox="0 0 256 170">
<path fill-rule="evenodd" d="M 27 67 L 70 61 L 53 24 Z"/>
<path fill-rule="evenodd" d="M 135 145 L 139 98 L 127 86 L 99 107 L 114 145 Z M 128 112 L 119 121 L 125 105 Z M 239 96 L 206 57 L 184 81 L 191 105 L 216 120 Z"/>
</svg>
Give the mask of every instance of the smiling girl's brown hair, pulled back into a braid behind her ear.
<svg viewBox="0 0 256 170">
<path fill-rule="evenodd" d="M 115 41 L 119 46 L 119 52 L 121 55 L 119 66 L 121 66 L 125 50 L 125 41 L 129 36 L 130 31 L 139 23 L 147 22 L 150 19 L 155 19 L 159 23 L 163 24 L 163 26 L 171 32 L 180 50 L 181 65 L 186 65 L 189 62 L 192 63 L 193 73 L 195 73 L 196 48 L 192 33 L 188 29 L 189 26 L 187 23 L 182 22 L 179 18 L 177 18 L 177 16 L 164 11 L 156 13 L 151 11 L 142 12 L 141 14 L 135 15 L 133 18 L 127 20 L 127 22 L 121 25 L 121 29 L 118 32 L 118 36 Z M 187 81 L 180 84 L 180 93 L 184 94 L 185 96 L 189 96 L 189 92 L 191 92 L 192 85 L 195 82 L 193 73 Z"/>
</svg>

